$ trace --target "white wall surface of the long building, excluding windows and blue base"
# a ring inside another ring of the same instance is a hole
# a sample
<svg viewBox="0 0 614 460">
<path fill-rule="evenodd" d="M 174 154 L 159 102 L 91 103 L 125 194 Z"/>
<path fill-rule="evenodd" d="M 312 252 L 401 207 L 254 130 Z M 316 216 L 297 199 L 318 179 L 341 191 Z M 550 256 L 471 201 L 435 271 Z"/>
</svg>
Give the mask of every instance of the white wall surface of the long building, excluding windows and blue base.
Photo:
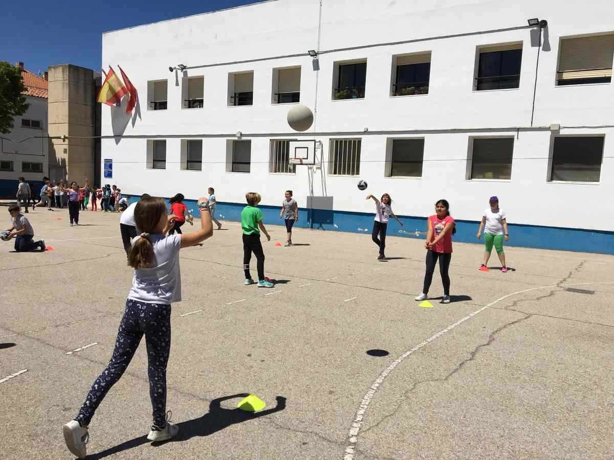
<svg viewBox="0 0 614 460">
<path fill-rule="evenodd" d="M 306 55 L 307 50 L 317 48 L 317 0 L 270 1 L 104 34 L 103 67 L 122 65 L 141 101 L 141 118 L 134 126 L 122 110 L 103 107 L 103 136 L 140 137 L 123 137 L 119 142 L 103 139 L 102 158 L 114 161 L 112 182 L 131 194 L 153 190 L 161 196 L 181 192 L 188 198 L 203 195 L 211 185 L 220 201 L 239 203 L 246 191 L 257 190 L 265 205 L 279 204 L 283 191 L 292 188 L 304 206 L 309 194 L 305 167 L 298 167 L 296 175 L 268 172 L 270 139 L 298 136 L 286 123 L 292 105 L 271 104 L 273 69 L 301 66 L 301 103 L 314 110 L 317 102 L 316 121 L 309 130 L 314 134 L 307 138 L 322 140 L 324 160 L 328 159 L 329 139 L 362 138 L 359 177 L 327 175 L 324 191 L 316 173 L 314 194 L 334 196 L 336 210 L 371 212 L 365 193 L 356 188 L 362 178 L 368 181 L 371 193 L 390 193 L 395 212 L 401 215 L 429 215 L 433 203 L 445 197 L 456 218 L 479 220 L 488 197 L 497 194 L 514 223 L 614 229 L 614 215 L 595 219 L 590 205 L 614 192 L 613 128 L 562 129 L 560 133 L 605 135 L 599 183 L 547 180 L 549 125 L 614 125 L 612 84 L 556 86 L 555 82 L 561 37 L 614 31 L 610 4 L 593 0 L 578 9 L 553 0 L 513 4 L 324 0 L 322 5 L 319 49 L 325 53 L 319 56 L 319 72 Z M 532 42 L 532 29 L 437 38 L 524 26 L 532 17 L 548 20 L 536 87 L 538 47 Z M 429 37 L 432 39 L 422 40 Z M 416 41 L 368 47 L 402 40 Z M 477 47 L 508 42 L 523 44 L 519 88 L 473 91 Z M 333 51 L 343 47 L 365 48 Z M 392 98 L 392 56 L 417 52 L 431 53 L 429 94 Z M 303 55 L 232 64 L 299 53 Z M 367 59 L 365 99 L 333 101 L 334 63 L 351 59 Z M 188 69 L 183 75 L 204 76 L 203 109 L 181 109 L 182 75 L 168 71 L 168 66 L 179 63 L 207 66 Z M 214 65 L 220 63 L 229 64 Z M 228 74 L 233 72 L 254 72 L 254 105 L 227 106 Z M 168 79 L 168 110 L 147 110 L 147 82 L 160 79 Z M 530 126 L 534 90 L 533 125 L 546 128 L 518 131 L 518 127 Z M 243 132 L 243 139 L 252 140 L 250 174 L 225 171 L 226 139 L 233 139 L 238 131 Z M 466 180 L 470 136 L 492 135 L 515 136 L 511 180 Z M 167 139 L 164 171 L 146 169 L 146 138 L 153 136 Z M 203 138 L 203 171 L 180 171 L 182 136 Z M 384 177 L 386 139 L 413 136 L 425 139 L 422 177 Z"/>
</svg>

